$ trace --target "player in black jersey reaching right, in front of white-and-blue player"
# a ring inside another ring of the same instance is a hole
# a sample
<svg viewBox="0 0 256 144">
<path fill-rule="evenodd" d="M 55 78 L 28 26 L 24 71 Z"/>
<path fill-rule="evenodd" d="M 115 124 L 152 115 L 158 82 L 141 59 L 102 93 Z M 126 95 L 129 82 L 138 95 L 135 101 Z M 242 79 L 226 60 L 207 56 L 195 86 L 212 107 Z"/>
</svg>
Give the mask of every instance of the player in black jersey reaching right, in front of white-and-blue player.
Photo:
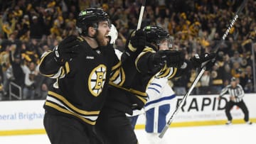
<svg viewBox="0 0 256 144">
<path fill-rule="evenodd" d="M 124 68 L 123 82 L 119 81 L 120 75 L 115 74 L 110 82 L 105 106 L 97 119 L 96 128 L 105 138 L 107 144 L 135 144 L 138 143 L 134 130 L 126 113 L 132 115 L 134 109 L 142 109 L 147 101 L 146 87 L 151 79 L 156 77 L 176 77 L 186 71 L 183 66 L 184 56 L 182 52 L 174 50 L 159 50 L 159 46 L 167 44 L 170 48 L 169 33 L 158 26 L 146 26 L 146 46 L 139 55 L 128 58 L 134 48 L 130 40 L 134 40 L 133 34 L 127 40 L 126 50 L 121 60 Z M 166 43 L 167 42 L 167 43 Z M 197 55 L 191 61 L 196 67 L 201 67 L 203 62 L 213 59 L 215 55 Z"/>
</svg>

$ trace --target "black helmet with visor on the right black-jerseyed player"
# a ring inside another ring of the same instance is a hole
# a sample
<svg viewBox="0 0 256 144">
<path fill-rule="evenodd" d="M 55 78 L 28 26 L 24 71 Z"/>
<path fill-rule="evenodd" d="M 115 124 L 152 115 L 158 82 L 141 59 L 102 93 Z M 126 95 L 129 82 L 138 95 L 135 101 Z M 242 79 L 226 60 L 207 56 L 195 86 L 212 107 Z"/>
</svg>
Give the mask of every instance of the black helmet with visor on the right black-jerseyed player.
<svg viewBox="0 0 256 144">
<path fill-rule="evenodd" d="M 143 28 L 146 32 L 146 42 L 160 45 L 161 40 L 168 40 L 169 48 L 172 48 L 172 40 L 169 33 L 159 26 L 146 26 Z"/>
</svg>

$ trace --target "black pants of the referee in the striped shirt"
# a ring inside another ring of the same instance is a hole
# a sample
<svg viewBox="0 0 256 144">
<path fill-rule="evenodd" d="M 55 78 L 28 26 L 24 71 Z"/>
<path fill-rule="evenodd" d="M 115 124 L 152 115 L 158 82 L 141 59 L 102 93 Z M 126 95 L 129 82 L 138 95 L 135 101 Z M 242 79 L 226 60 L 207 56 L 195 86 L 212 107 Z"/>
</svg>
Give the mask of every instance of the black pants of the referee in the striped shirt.
<svg viewBox="0 0 256 144">
<path fill-rule="evenodd" d="M 232 121 L 232 116 L 230 114 L 230 110 L 233 108 L 233 106 L 238 106 L 240 109 L 242 109 L 242 112 L 245 114 L 245 121 L 249 121 L 249 111 L 245 105 L 245 102 L 242 100 L 238 103 L 235 103 L 233 101 L 228 101 L 227 105 L 225 106 L 225 114 L 228 117 L 228 121 Z"/>
</svg>

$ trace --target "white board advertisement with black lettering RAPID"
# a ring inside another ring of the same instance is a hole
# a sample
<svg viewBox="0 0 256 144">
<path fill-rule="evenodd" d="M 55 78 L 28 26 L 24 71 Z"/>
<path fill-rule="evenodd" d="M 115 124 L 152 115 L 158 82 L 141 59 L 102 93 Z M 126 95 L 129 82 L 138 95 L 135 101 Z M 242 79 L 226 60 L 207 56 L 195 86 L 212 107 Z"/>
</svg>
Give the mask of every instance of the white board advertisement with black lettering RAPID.
<svg viewBox="0 0 256 144">
<path fill-rule="evenodd" d="M 177 104 L 181 102 L 183 96 L 176 96 L 171 104 L 171 112 L 167 119 L 176 109 Z M 186 103 L 178 111 L 174 117 L 173 123 L 183 122 L 200 122 L 200 121 L 226 121 L 225 105 L 229 101 L 228 95 L 223 96 L 220 100 L 217 99 L 218 95 L 197 95 L 188 96 Z M 250 119 L 256 118 L 256 94 L 245 94 L 243 100 L 249 110 Z M 230 111 L 233 120 L 243 119 L 244 114 L 238 106 L 234 106 Z M 138 125 L 144 124 L 144 116 L 139 116 L 137 121 Z"/>
</svg>

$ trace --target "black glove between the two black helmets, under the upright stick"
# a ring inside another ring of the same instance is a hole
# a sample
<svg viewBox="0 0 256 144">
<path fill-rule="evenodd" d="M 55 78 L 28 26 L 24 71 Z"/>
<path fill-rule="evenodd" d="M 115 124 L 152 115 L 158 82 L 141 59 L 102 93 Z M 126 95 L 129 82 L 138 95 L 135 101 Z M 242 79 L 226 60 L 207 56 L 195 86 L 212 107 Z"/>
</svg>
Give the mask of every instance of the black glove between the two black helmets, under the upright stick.
<svg viewBox="0 0 256 144">
<path fill-rule="evenodd" d="M 139 29 L 137 31 L 133 31 L 132 35 L 129 39 L 128 48 L 132 52 L 139 51 L 142 52 L 146 45 L 146 33 Z"/>
</svg>

